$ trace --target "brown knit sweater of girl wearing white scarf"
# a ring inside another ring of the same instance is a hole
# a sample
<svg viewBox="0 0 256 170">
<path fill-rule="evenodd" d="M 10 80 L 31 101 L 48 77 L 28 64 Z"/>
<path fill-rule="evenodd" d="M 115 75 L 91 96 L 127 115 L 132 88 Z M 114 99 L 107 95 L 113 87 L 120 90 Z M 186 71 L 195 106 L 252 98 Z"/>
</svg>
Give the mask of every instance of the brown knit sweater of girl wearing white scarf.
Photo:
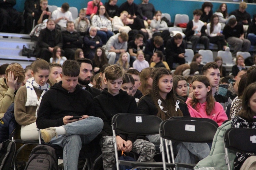
<svg viewBox="0 0 256 170">
<path fill-rule="evenodd" d="M 35 94 L 37 96 L 41 96 L 43 90 L 39 90 L 34 88 Z M 27 102 L 27 88 L 26 86 L 22 86 L 16 93 L 14 100 L 14 116 L 15 120 L 18 124 L 25 126 L 31 123 L 34 123 L 37 119 L 35 117 L 35 111 L 37 110 L 37 106 L 25 106 Z"/>
</svg>

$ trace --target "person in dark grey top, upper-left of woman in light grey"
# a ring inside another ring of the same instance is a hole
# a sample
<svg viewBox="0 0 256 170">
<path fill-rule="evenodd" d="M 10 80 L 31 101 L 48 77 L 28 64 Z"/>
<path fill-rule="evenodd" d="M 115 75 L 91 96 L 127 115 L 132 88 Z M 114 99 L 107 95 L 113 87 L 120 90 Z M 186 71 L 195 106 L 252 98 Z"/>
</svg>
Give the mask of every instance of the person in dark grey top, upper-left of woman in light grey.
<svg viewBox="0 0 256 170">
<path fill-rule="evenodd" d="M 150 25 L 156 10 L 154 5 L 148 1 L 149 0 L 142 0 L 142 3 L 138 5 L 138 11 L 140 13 L 140 17 Z"/>
</svg>

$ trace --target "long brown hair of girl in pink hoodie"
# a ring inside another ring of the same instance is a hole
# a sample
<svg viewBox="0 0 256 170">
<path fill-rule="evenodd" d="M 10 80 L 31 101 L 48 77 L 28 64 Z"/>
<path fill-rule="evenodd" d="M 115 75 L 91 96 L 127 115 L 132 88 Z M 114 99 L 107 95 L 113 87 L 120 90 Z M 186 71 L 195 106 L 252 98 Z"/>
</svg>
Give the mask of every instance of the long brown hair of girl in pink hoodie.
<svg viewBox="0 0 256 170">
<path fill-rule="evenodd" d="M 193 82 L 198 81 L 203 83 L 206 87 L 210 86 L 211 89 L 209 92 L 207 92 L 207 97 L 206 97 L 206 107 L 205 107 L 205 111 L 207 115 L 211 115 L 213 109 L 215 109 L 215 100 L 214 97 L 212 95 L 212 86 L 210 84 L 209 79 L 205 76 L 205 75 L 198 75 L 196 77 L 194 77 L 192 79 L 191 84 L 193 84 Z M 191 106 L 196 109 L 196 111 L 199 111 L 200 108 L 200 103 L 199 101 L 195 98 L 195 96 L 193 96 L 192 100 L 189 101 L 189 103 L 191 104 Z"/>
</svg>

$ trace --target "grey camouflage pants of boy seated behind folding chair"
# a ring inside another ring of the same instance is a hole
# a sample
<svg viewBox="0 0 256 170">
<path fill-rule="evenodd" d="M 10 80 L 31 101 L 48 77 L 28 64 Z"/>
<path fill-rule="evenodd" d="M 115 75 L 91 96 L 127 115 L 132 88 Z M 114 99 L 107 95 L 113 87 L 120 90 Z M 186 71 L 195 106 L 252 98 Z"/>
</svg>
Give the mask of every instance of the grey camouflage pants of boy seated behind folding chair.
<svg viewBox="0 0 256 170">
<path fill-rule="evenodd" d="M 116 167 L 115 149 L 112 136 L 103 136 L 100 139 L 104 170 L 113 170 Z M 139 154 L 138 162 L 151 162 L 155 156 L 155 145 L 143 139 L 137 139 L 132 144 L 132 151 Z"/>
</svg>

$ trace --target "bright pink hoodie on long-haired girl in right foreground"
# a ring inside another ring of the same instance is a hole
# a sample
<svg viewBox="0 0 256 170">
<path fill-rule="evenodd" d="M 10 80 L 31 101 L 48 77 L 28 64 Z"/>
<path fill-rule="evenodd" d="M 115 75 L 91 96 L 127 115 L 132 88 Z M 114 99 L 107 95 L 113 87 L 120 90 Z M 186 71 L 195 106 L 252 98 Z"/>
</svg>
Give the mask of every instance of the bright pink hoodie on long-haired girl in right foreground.
<svg viewBox="0 0 256 170">
<path fill-rule="evenodd" d="M 186 103 L 187 103 L 187 107 L 188 107 L 188 111 L 190 113 L 191 117 L 199 117 L 199 118 L 209 118 L 214 120 L 215 122 L 218 123 L 218 125 L 222 125 L 222 123 L 228 119 L 223 106 L 221 104 L 219 104 L 218 102 L 215 102 L 215 108 L 213 109 L 212 113 L 210 115 L 207 115 L 205 109 L 206 109 L 206 102 L 201 103 L 201 104 L 197 104 L 196 108 L 198 109 L 194 109 L 190 102 L 192 99 L 188 98 Z"/>
</svg>

